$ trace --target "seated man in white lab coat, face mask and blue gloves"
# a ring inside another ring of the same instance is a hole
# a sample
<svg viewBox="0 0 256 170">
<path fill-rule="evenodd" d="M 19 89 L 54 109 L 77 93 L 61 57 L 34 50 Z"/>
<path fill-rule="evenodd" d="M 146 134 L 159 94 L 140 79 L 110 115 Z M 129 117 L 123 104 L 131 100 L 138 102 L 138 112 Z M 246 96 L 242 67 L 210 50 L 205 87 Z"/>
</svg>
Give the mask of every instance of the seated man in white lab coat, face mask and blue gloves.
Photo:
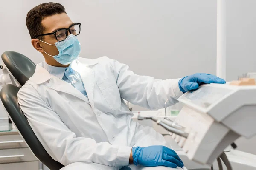
<svg viewBox="0 0 256 170">
<path fill-rule="evenodd" d="M 20 89 L 18 102 L 53 159 L 65 166 L 81 163 L 76 169 L 184 166 L 161 134 L 132 121 L 123 99 L 158 109 L 167 99 L 173 105 L 186 91 L 202 83 L 225 83 L 223 79 L 194 74 L 160 80 L 138 76 L 108 57 L 80 58 L 81 24 L 73 23 L 59 3 L 36 6 L 26 25 L 45 62 Z"/>
</svg>

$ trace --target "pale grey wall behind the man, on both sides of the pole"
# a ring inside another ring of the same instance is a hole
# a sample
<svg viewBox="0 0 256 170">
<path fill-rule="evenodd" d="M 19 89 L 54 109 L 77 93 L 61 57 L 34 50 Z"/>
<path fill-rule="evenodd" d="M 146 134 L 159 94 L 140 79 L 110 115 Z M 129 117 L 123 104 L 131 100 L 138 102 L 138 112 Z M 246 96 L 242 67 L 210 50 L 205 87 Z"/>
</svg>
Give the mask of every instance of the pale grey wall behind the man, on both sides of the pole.
<svg viewBox="0 0 256 170">
<path fill-rule="evenodd" d="M 44 0 L 0 2 L 0 54 L 43 61 L 30 44 L 26 13 Z M 81 56 L 108 56 L 160 79 L 215 74 L 216 0 L 57 0 L 81 22 Z M 227 0 L 227 80 L 256 71 L 256 1 Z M 138 109 L 138 108 L 135 108 Z M 6 116 L 0 109 L 0 117 Z"/>
</svg>

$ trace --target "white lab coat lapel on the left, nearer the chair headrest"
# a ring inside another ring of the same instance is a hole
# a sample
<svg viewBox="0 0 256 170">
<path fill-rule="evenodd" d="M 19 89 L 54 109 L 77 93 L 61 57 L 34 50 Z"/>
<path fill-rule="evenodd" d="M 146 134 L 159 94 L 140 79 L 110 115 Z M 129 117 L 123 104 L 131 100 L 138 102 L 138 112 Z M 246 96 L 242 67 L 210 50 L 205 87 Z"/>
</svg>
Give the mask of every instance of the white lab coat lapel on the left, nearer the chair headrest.
<svg viewBox="0 0 256 170">
<path fill-rule="evenodd" d="M 61 92 L 67 93 L 67 94 L 71 94 L 71 95 L 76 96 L 79 99 L 82 99 L 85 102 L 89 103 L 87 97 L 84 96 L 80 91 L 78 91 L 76 88 L 74 88 L 69 83 L 67 83 L 57 77 L 51 76 L 48 87 L 52 88 L 56 91 L 61 91 Z"/>
</svg>

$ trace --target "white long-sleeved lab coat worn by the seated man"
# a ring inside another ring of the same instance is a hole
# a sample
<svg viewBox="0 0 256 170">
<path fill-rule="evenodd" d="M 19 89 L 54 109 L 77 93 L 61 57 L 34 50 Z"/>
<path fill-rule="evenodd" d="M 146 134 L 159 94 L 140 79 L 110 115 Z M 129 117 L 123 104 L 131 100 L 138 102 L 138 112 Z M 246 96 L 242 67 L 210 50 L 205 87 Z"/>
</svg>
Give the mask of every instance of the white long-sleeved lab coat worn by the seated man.
<svg viewBox="0 0 256 170">
<path fill-rule="evenodd" d="M 179 79 L 139 76 L 108 57 L 72 63 L 88 94 L 40 65 L 18 92 L 18 102 L 49 155 L 63 165 L 93 162 L 111 167 L 129 164 L 131 147 L 166 145 L 151 127 L 134 122 L 124 100 L 149 109 L 177 102 Z"/>
</svg>

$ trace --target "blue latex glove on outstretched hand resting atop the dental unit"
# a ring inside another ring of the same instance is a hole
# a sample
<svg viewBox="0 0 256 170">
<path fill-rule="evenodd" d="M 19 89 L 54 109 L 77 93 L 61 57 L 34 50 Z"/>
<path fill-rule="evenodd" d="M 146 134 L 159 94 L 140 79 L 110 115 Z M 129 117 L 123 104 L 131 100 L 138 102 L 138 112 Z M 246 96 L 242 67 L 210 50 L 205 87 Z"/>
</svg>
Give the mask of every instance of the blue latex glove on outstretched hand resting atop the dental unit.
<svg viewBox="0 0 256 170">
<path fill-rule="evenodd" d="M 198 89 L 201 84 L 210 83 L 225 84 L 226 81 L 212 74 L 197 73 L 180 79 L 179 88 L 180 91 L 186 93 L 187 91 Z"/>
</svg>

